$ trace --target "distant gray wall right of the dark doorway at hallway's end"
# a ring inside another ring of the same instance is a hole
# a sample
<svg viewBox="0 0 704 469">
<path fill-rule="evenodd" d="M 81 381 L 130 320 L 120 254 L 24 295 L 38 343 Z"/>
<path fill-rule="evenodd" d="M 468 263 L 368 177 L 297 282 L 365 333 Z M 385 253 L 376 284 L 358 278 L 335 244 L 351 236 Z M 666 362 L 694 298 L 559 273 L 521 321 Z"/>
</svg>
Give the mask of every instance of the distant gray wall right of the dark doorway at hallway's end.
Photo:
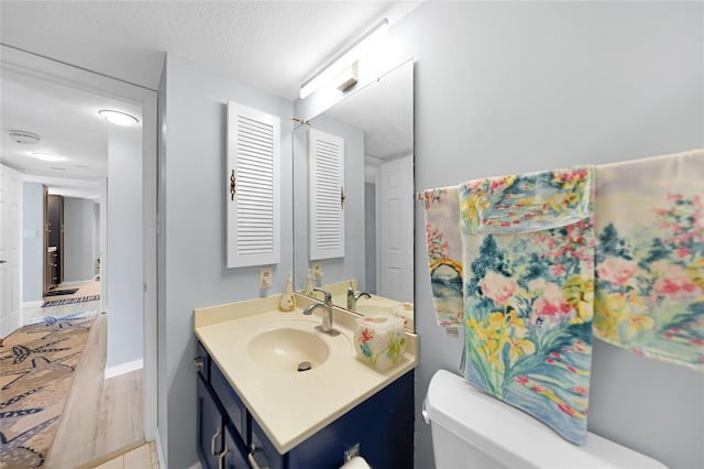
<svg viewBox="0 0 704 469">
<path fill-rule="evenodd" d="M 96 274 L 96 204 L 64 197 L 64 282 L 92 280 Z"/>
</svg>

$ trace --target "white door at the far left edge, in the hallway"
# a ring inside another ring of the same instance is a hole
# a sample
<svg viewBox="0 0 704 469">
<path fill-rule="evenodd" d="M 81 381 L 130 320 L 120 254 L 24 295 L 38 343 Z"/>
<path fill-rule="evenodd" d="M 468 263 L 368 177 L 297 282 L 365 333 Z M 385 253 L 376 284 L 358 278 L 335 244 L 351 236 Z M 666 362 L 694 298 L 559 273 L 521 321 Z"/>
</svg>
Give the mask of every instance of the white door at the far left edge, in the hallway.
<svg viewBox="0 0 704 469">
<path fill-rule="evenodd" d="M 20 173 L 0 165 L 0 337 L 22 325 L 20 306 Z"/>
</svg>

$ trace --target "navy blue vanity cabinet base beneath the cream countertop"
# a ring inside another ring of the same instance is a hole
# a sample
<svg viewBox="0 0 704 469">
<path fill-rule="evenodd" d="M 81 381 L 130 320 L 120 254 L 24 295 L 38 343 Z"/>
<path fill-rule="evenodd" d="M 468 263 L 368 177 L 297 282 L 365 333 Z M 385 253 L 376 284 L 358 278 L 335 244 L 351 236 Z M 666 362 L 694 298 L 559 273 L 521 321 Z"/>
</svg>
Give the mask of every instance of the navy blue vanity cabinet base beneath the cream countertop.
<svg viewBox="0 0 704 469">
<path fill-rule="evenodd" d="M 332 469 L 358 444 L 375 469 L 414 466 L 413 370 L 280 455 L 217 363 L 208 363 L 210 382 L 198 377 L 198 457 L 205 469 Z M 222 433 L 216 437 L 218 428 Z"/>
</svg>

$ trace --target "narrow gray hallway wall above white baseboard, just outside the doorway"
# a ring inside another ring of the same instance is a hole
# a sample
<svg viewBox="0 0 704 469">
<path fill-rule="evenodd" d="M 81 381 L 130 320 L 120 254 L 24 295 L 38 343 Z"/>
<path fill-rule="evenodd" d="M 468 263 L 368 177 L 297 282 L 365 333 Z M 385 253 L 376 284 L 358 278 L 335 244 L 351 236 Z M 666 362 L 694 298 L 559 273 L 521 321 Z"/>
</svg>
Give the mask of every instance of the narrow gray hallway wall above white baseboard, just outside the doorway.
<svg viewBox="0 0 704 469">
<path fill-rule="evenodd" d="M 107 368 L 143 357 L 142 142 L 108 139 Z"/>
</svg>

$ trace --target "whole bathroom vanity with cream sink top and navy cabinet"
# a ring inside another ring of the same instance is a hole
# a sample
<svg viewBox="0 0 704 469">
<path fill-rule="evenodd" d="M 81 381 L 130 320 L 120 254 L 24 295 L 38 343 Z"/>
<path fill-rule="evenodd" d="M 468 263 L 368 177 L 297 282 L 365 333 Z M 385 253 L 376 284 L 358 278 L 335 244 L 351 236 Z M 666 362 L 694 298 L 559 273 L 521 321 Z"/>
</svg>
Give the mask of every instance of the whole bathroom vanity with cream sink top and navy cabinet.
<svg viewBox="0 0 704 469">
<path fill-rule="evenodd" d="M 345 451 L 375 468 L 413 467 L 417 336 L 378 371 L 355 358 L 356 315 L 334 308 L 331 337 L 315 329 L 319 315 L 302 315 L 310 299 L 297 301 L 290 313 L 277 296 L 196 309 L 204 468 L 337 468 Z"/>
</svg>

